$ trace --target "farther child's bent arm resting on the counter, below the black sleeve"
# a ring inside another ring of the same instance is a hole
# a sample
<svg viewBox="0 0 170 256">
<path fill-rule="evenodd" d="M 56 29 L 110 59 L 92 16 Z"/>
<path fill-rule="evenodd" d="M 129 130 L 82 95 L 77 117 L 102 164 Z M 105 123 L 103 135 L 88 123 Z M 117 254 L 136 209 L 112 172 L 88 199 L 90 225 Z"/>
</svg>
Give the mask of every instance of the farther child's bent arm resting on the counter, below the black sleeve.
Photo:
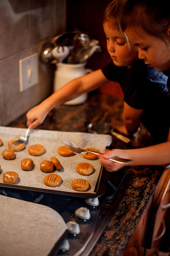
<svg viewBox="0 0 170 256">
<path fill-rule="evenodd" d="M 119 132 L 126 135 L 133 135 L 140 124 L 140 118 L 143 110 L 134 109 L 124 102 L 122 119 L 124 125 L 115 127 Z"/>
</svg>

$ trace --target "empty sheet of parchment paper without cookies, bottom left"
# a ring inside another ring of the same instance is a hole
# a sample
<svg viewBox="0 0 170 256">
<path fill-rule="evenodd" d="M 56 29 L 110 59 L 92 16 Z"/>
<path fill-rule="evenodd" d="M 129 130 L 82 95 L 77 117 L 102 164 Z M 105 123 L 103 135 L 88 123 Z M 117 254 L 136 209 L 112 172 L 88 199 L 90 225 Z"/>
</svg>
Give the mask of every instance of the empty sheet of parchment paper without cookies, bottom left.
<svg viewBox="0 0 170 256">
<path fill-rule="evenodd" d="M 0 256 L 48 256 L 67 230 L 56 210 L 2 195 L 0 216 Z"/>
</svg>

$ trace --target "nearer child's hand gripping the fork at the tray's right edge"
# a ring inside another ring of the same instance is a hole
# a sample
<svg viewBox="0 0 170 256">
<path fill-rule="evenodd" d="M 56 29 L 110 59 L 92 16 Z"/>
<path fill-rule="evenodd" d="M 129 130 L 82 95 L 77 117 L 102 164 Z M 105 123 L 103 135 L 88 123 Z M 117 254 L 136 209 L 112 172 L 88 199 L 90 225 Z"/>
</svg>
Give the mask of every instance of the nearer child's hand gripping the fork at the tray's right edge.
<svg viewBox="0 0 170 256">
<path fill-rule="evenodd" d="M 109 160 L 109 158 L 113 158 L 113 157 L 122 157 L 120 155 L 120 152 L 122 151 L 120 149 L 113 149 L 113 150 L 105 150 L 103 152 L 103 154 L 99 154 L 99 161 L 101 164 L 103 164 L 103 166 L 105 167 L 105 169 L 107 171 L 113 172 L 113 171 L 118 171 L 119 169 L 123 168 L 125 166 L 125 164 L 122 163 L 115 163 L 111 160 Z M 119 153 L 119 155 L 118 155 Z M 122 157 L 123 158 L 123 157 Z"/>
</svg>

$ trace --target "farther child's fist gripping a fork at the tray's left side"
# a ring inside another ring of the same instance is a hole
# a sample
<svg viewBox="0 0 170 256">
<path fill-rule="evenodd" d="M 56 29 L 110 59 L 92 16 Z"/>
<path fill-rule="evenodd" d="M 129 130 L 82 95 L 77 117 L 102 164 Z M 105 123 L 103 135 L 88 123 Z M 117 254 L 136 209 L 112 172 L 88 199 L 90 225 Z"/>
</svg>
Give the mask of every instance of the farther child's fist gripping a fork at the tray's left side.
<svg viewBox="0 0 170 256">
<path fill-rule="evenodd" d="M 47 116 L 48 111 L 41 104 L 29 110 L 26 114 L 27 117 L 27 126 L 30 129 L 36 128 L 39 124 L 43 122 Z"/>
</svg>

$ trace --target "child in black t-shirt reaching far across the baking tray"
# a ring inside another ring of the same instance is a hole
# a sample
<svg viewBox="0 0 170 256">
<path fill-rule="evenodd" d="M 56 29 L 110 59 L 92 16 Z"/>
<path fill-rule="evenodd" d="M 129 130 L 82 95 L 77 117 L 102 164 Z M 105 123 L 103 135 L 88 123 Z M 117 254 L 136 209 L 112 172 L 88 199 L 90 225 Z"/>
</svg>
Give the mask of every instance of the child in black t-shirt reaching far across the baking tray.
<svg viewBox="0 0 170 256">
<path fill-rule="evenodd" d="M 129 48 L 129 44 L 118 29 L 118 10 L 119 0 L 114 0 L 107 6 L 103 18 L 107 49 L 112 61 L 101 70 L 72 80 L 31 109 L 26 115 L 29 128 L 33 129 L 42 123 L 55 106 L 112 80 L 119 82 L 124 91 L 123 121 L 126 133 L 135 133 L 142 121 L 155 142 L 167 140 L 170 127 L 170 118 L 164 111 L 170 107 L 169 93 L 166 89 L 167 78 L 138 59 L 137 47 L 130 44 Z M 158 106 L 158 101 L 161 106 Z M 165 118 L 167 125 L 162 126 Z"/>
</svg>

